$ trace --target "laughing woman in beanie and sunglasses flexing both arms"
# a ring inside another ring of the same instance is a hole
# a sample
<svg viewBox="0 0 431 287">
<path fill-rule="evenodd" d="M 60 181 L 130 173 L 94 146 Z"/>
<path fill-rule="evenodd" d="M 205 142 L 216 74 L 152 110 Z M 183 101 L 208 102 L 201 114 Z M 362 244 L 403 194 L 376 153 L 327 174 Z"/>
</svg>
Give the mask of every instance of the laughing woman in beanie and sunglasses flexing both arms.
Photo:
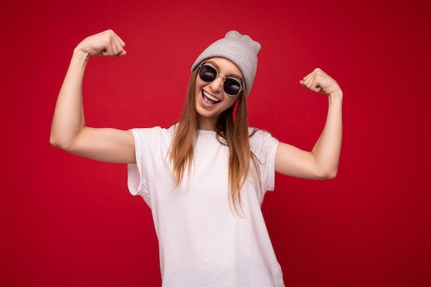
<svg viewBox="0 0 431 287">
<path fill-rule="evenodd" d="M 316 69 L 300 81 L 328 96 L 326 125 L 312 151 L 247 123 L 246 98 L 260 43 L 231 31 L 193 63 L 179 123 L 164 129 L 85 125 L 82 82 L 91 56 L 124 56 L 112 30 L 75 48 L 56 103 L 50 142 L 78 156 L 128 165 L 129 191 L 151 208 L 162 286 L 284 286 L 260 206 L 275 172 L 334 178 L 343 93 Z M 234 114 L 235 112 L 235 114 Z"/>
</svg>

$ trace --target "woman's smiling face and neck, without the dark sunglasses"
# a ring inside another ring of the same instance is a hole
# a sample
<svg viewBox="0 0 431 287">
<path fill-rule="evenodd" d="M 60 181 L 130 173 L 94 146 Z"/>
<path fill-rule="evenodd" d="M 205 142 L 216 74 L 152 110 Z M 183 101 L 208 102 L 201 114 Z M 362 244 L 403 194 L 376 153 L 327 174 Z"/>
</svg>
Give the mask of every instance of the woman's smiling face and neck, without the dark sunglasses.
<svg viewBox="0 0 431 287">
<path fill-rule="evenodd" d="M 234 63 L 220 57 L 211 58 L 205 64 L 213 67 L 219 75 L 211 83 L 196 76 L 196 111 L 199 128 L 213 130 L 220 114 L 235 104 L 242 94 L 242 91 L 235 96 L 226 94 L 223 89 L 224 77 L 235 78 L 242 83 L 242 73 Z"/>
</svg>

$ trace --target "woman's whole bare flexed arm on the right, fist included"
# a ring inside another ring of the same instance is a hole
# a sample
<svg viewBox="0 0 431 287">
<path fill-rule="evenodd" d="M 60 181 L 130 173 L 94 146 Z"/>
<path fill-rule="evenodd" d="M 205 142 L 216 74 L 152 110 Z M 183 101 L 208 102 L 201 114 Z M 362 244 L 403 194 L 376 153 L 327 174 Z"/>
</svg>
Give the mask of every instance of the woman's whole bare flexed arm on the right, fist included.
<svg viewBox="0 0 431 287">
<path fill-rule="evenodd" d="M 337 176 L 341 152 L 343 92 L 337 82 L 320 69 L 299 81 L 304 87 L 328 96 L 328 115 L 322 134 L 311 151 L 280 142 L 275 171 L 297 178 L 330 179 Z"/>
</svg>

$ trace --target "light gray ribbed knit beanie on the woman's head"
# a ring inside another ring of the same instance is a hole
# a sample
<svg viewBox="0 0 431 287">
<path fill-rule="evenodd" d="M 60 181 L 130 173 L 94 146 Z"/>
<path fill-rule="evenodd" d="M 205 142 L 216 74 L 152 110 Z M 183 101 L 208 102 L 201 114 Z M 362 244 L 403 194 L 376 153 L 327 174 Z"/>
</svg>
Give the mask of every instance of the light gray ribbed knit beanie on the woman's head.
<svg viewBox="0 0 431 287">
<path fill-rule="evenodd" d="M 191 72 L 198 65 L 209 58 L 226 58 L 237 65 L 244 76 L 246 96 L 249 96 L 257 71 L 257 53 L 260 51 L 260 43 L 253 41 L 250 36 L 242 35 L 238 31 L 227 32 L 224 38 L 215 41 L 204 50 L 191 66 Z"/>
</svg>

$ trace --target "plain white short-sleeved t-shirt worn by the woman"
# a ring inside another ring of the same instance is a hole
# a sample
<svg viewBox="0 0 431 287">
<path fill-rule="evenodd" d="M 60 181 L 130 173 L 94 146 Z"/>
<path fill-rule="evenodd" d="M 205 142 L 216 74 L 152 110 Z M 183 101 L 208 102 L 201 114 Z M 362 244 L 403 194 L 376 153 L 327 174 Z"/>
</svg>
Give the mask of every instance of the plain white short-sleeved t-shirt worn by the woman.
<svg viewBox="0 0 431 287">
<path fill-rule="evenodd" d="M 277 139 L 262 130 L 251 136 L 262 163 L 261 187 L 249 175 L 238 214 L 228 191 L 229 147 L 215 131 L 199 131 L 190 176 L 186 172 L 177 189 L 167 158 L 174 126 L 132 132 L 137 163 L 128 166 L 128 186 L 151 208 L 162 286 L 284 286 L 260 209 L 264 193 L 274 188 Z"/>
</svg>

